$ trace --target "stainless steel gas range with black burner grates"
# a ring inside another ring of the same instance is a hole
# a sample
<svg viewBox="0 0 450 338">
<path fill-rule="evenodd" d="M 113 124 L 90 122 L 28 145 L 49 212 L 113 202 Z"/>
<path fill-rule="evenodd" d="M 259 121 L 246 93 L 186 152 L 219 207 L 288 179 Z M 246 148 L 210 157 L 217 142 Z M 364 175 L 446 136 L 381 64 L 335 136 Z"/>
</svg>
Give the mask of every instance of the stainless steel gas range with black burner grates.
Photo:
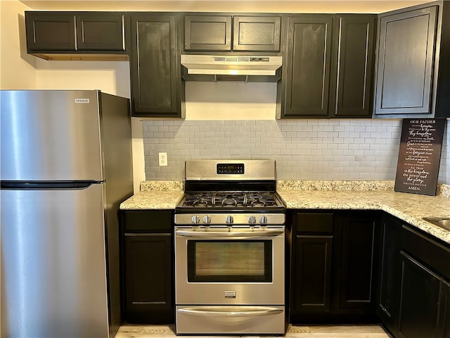
<svg viewBox="0 0 450 338">
<path fill-rule="evenodd" d="M 175 209 L 176 334 L 284 334 L 275 161 L 186 161 Z"/>
</svg>

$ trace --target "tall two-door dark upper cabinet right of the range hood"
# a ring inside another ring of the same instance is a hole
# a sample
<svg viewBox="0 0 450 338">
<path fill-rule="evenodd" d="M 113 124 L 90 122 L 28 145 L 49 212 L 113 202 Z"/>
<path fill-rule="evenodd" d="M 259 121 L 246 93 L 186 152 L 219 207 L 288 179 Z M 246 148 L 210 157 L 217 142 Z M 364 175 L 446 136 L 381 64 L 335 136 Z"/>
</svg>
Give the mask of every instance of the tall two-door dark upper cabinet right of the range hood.
<svg viewBox="0 0 450 338">
<path fill-rule="evenodd" d="M 371 117 L 376 15 L 288 18 L 283 118 Z"/>
</svg>

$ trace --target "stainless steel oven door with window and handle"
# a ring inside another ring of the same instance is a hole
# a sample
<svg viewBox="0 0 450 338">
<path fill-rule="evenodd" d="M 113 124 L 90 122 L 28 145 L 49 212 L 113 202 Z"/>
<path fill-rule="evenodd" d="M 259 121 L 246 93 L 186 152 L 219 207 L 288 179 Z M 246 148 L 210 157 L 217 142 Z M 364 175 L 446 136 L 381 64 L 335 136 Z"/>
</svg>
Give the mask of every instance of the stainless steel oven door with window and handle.
<svg viewBox="0 0 450 338">
<path fill-rule="evenodd" d="M 284 225 L 177 226 L 177 305 L 284 305 Z"/>
</svg>

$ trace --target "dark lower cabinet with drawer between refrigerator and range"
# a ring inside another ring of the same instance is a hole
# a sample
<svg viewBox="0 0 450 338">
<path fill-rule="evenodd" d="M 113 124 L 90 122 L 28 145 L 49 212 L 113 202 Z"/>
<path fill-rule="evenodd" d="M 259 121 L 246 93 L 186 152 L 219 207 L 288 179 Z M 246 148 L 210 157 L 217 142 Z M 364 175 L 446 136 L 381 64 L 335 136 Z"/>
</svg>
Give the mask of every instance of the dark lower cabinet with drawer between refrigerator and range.
<svg viewBox="0 0 450 338">
<path fill-rule="evenodd" d="M 122 321 L 174 323 L 171 211 L 122 214 Z"/>
</svg>

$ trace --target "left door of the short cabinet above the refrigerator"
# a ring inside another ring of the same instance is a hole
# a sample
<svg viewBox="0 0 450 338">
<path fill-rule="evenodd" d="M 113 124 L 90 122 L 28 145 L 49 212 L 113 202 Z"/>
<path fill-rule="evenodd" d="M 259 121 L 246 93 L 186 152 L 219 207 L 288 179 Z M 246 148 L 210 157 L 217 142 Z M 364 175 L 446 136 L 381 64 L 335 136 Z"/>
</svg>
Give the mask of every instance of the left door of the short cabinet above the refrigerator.
<svg viewBox="0 0 450 338">
<path fill-rule="evenodd" d="M 25 12 L 27 51 L 76 51 L 75 14 Z"/>
</svg>

